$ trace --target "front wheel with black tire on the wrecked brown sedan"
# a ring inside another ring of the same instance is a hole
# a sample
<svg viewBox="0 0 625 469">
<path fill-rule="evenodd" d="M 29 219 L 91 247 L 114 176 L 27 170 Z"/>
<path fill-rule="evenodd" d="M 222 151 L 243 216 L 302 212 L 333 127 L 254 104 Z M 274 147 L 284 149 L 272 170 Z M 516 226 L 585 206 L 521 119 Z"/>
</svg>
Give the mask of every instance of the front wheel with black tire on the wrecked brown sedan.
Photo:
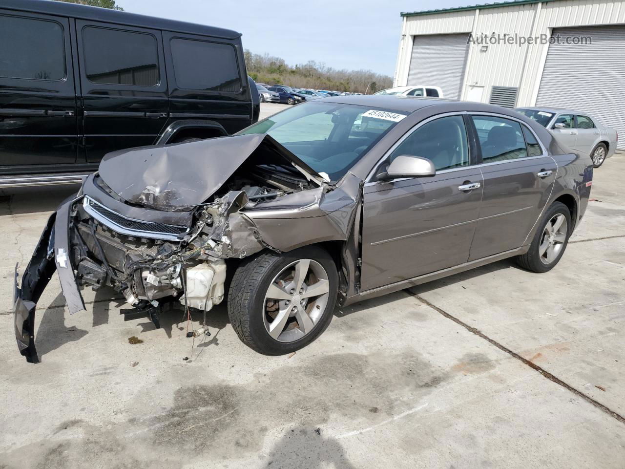
<svg viewBox="0 0 625 469">
<path fill-rule="evenodd" d="M 232 278 L 228 316 L 241 341 L 264 355 L 284 355 L 315 340 L 332 320 L 338 273 L 317 246 L 264 252 Z"/>
</svg>

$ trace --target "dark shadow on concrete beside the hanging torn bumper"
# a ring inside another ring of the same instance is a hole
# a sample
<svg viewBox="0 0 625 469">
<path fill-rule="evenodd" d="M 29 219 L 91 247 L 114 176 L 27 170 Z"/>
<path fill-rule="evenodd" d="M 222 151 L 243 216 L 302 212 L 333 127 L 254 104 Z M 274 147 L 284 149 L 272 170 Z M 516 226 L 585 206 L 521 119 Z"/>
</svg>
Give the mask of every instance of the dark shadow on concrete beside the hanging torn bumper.
<svg viewBox="0 0 625 469">
<path fill-rule="evenodd" d="M 87 334 L 88 331 L 76 326 L 65 325 L 65 298 L 63 293 L 59 293 L 43 312 L 35 335 L 39 359 L 66 343 L 81 340 Z"/>
</svg>

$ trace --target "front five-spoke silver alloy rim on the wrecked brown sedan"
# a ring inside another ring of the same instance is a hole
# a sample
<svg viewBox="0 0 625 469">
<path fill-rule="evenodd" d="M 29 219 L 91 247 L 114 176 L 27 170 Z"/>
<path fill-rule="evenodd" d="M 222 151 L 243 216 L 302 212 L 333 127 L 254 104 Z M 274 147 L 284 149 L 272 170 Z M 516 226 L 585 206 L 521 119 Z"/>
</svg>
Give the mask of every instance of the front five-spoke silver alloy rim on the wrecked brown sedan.
<svg viewBox="0 0 625 469">
<path fill-rule="evenodd" d="M 265 294 L 262 321 L 279 342 L 309 334 L 327 308 L 330 284 L 327 272 L 312 259 L 300 259 L 278 273 Z"/>
</svg>

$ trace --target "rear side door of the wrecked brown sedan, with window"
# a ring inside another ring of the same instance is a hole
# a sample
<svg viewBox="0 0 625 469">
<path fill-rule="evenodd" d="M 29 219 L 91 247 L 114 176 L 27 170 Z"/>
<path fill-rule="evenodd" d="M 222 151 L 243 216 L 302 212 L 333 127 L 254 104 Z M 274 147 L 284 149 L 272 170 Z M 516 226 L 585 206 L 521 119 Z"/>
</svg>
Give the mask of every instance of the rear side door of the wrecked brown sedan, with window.
<svg viewBox="0 0 625 469">
<path fill-rule="evenodd" d="M 481 147 L 484 193 L 469 261 L 519 248 L 539 218 L 557 165 L 521 121 L 472 116 Z"/>
</svg>

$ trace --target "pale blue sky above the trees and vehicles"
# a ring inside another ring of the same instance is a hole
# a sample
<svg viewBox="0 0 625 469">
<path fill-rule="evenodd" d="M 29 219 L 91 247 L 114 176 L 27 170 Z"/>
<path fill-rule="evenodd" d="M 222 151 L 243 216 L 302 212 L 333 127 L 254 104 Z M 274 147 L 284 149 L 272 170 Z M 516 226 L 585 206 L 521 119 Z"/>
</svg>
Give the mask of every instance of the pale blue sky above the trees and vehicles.
<svg viewBox="0 0 625 469">
<path fill-rule="evenodd" d="M 243 34 L 243 46 L 294 65 L 314 60 L 332 68 L 392 76 L 401 11 L 475 4 L 462 0 L 117 0 L 133 13 L 209 24 Z M 484 2 L 485 3 L 485 2 Z"/>
</svg>

